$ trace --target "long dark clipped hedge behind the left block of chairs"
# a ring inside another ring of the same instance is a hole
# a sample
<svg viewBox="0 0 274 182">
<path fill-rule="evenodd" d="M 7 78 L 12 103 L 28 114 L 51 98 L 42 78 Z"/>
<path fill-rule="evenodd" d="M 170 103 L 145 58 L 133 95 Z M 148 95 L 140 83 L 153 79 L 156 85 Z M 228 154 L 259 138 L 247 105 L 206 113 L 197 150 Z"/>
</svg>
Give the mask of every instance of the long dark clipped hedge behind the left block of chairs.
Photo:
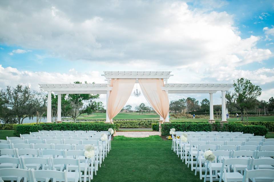
<svg viewBox="0 0 274 182">
<path fill-rule="evenodd" d="M 109 128 L 116 129 L 114 124 L 106 123 L 41 123 L 16 125 L 14 135 L 19 137 L 20 134 L 29 134 L 29 132 L 38 132 L 38 130 L 93 130 L 93 131 L 108 131 Z"/>
</svg>

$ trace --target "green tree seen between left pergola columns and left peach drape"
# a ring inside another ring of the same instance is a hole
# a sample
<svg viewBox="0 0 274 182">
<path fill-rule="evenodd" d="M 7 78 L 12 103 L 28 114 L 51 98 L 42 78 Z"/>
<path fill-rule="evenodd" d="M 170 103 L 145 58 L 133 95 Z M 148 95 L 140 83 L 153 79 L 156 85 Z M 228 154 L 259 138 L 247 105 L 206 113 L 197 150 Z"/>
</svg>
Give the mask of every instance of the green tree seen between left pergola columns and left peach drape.
<svg viewBox="0 0 274 182">
<path fill-rule="evenodd" d="M 76 81 L 74 84 L 81 84 L 82 82 Z M 87 83 L 87 82 L 85 82 Z M 83 113 L 83 101 L 89 101 L 92 99 L 99 98 L 99 94 L 68 94 L 67 100 L 69 101 L 70 107 L 68 109 L 68 116 L 74 119 L 76 123 L 76 118 Z"/>
</svg>

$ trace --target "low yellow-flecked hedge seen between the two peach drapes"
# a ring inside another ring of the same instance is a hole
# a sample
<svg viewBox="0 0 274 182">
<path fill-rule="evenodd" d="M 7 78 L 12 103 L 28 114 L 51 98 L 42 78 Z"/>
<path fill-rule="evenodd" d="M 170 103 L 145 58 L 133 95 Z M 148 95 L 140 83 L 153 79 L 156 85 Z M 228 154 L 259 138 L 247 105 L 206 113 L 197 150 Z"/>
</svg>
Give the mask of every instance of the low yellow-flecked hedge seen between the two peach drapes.
<svg viewBox="0 0 274 182">
<path fill-rule="evenodd" d="M 152 123 L 158 123 L 157 120 L 134 120 L 134 121 L 113 121 L 114 124 L 120 124 L 121 128 L 151 128 Z"/>
</svg>

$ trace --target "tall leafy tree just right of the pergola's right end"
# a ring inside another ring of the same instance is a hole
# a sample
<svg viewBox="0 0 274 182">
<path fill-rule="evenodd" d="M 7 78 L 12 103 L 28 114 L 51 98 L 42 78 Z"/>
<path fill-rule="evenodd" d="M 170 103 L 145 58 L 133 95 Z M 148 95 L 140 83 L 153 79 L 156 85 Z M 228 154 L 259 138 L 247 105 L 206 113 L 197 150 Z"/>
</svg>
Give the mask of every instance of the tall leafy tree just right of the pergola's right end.
<svg viewBox="0 0 274 182">
<path fill-rule="evenodd" d="M 261 88 L 253 85 L 250 80 L 239 78 L 233 84 L 233 106 L 240 110 L 241 121 L 243 121 L 243 113 L 246 109 L 253 108 L 257 101 L 257 97 L 261 95 Z"/>
</svg>

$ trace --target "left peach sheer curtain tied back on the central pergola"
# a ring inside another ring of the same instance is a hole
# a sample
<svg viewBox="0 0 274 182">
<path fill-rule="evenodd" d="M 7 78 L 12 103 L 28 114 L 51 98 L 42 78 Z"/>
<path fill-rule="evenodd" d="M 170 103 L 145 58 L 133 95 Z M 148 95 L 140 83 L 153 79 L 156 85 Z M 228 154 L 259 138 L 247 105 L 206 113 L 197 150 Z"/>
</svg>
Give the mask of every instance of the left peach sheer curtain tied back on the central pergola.
<svg viewBox="0 0 274 182">
<path fill-rule="evenodd" d="M 126 104 L 136 79 L 111 79 L 112 90 L 108 98 L 108 117 L 112 119 L 121 111 Z"/>
</svg>

